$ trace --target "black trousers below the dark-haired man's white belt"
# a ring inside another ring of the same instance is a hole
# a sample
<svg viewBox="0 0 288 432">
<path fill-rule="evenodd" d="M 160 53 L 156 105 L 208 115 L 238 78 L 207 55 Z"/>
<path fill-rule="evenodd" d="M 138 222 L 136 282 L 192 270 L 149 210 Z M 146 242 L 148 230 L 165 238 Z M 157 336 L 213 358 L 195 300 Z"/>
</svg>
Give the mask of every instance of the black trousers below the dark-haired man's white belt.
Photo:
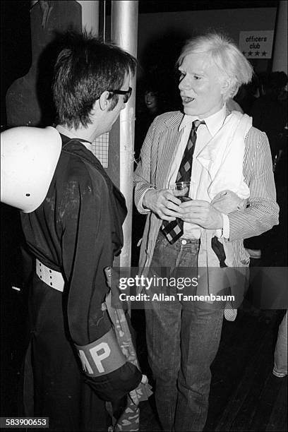
<svg viewBox="0 0 288 432">
<path fill-rule="evenodd" d="M 37 275 L 30 293 L 31 339 L 25 357 L 26 416 L 49 417 L 54 431 L 107 431 L 105 402 L 84 382 L 69 340 L 64 294 Z"/>
</svg>

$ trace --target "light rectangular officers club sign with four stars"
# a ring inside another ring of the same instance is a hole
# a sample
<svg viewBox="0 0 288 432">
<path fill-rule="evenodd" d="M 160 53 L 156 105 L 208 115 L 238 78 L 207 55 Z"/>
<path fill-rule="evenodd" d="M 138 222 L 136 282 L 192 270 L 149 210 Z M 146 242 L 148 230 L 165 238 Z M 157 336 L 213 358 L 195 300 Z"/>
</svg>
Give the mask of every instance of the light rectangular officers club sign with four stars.
<svg viewBox="0 0 288 432">
<path fill-rule="evenodd" d="M 239 49 L 247 59 L 271 59 L 273 30 L 251 30 L 239 33 Z"/>
</svg>

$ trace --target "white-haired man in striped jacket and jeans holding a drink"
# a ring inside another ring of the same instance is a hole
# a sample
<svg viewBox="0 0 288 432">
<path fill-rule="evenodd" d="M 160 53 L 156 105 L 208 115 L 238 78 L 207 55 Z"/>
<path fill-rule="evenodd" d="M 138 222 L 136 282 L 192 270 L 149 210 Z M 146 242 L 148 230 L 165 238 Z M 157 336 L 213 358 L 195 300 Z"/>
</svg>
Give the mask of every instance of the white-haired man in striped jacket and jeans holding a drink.
<svg viewBox="0 0 288 432">
<path fill-rule="evenodd" d="M 279 208 L 265 133 L 225 103 L 251 80 L 251 65 L 214 33 L 188 41 L 177 64 L 184 113 L 155 119 L 135 173 L 136 205 L 148 215 L 139 265 L 170 276 L 186 268 L 197 280 L 203 268 L 245 269 L 243 240 L 277 224 Z M 192 181 L 191 200 L 174 195 L 176 181 Z M 206 273 L 201 289 L 211 293 L 219 272 Z M 225 301 L 184 301 L 177 288 L 168 291 L 174 301 L 151 301 L 145 311 L 157 411 L 165 431 L 201 431 L 224 309 L 227 318 L 236 311 Z"/>
</svg>

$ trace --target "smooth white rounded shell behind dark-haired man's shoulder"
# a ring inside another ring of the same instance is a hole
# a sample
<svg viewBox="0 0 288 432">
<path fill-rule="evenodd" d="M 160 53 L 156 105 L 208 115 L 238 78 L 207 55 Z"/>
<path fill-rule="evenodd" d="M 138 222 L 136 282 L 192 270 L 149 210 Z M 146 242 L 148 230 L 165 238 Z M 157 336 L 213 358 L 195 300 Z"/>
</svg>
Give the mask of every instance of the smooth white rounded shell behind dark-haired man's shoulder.
<svg viewBox="0 0 288 432">
<path fill-rule="evenodd" d="M 30 213 L 43 202 L 61 152 L 55 128 L 20 126 L 1 133 L 1 202 Z"/>
</svg>

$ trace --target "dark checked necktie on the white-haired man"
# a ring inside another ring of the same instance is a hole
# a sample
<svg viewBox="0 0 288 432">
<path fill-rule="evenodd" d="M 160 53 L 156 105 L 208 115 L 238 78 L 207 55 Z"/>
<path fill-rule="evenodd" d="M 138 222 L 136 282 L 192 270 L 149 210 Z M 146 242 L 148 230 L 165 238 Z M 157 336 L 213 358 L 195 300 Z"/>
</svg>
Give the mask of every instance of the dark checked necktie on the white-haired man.
<svg viewBox="0 0 288 432">
<path fill-rule="evenodd" d="M 197 129 L 200 124 L 205 124 L 205 121 L 195 120 L 192 123 L 188 143 L 184 150 L 184 154 L 179 167 L 179 172 L 176 176 L 176 182 L 191 180 L 193 152 L 196 144 Z M 178 218 L 176 220 L 172 220 L 171 222 L 169 222 L 169 220 L 163 220 L 161 230 L 162 233 L 167 237 L 167 240 L 170 244 L 173 244 L 183 235 L 183 223 L 183 220 Z"/>
</svg>

